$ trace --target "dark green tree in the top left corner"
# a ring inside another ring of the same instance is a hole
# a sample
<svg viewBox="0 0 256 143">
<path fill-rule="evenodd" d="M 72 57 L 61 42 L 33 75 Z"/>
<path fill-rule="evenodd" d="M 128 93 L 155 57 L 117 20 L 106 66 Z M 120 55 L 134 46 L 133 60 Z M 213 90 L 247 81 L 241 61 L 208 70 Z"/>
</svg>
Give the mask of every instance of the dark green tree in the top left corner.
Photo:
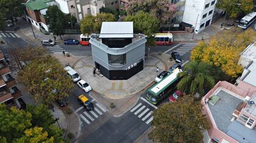
<svg viewBox="0 0 256 143">
<path fill-rule="evenodd" d="M 1 0 L 0 1 L 0 13 L 4 15 L 6 19 L 10 19 L 13 23 L 13 18 L 22 15 L 23 12 L 22 0 Z"/>
</svg>

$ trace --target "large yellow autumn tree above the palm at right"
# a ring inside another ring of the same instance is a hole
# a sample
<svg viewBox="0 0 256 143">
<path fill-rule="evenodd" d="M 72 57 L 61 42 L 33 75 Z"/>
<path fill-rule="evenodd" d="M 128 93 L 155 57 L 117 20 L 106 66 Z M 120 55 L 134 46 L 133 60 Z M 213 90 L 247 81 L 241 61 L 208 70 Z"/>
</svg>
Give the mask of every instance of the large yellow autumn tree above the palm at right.
<svg viewBox="0 0 256 143">
<path fill-rule="evenodd" d="M 226 75 L 236 78 L 243 71 L 241 65 L 238 65 L 240 53 L 254 42 L 255 38 L 254 30 L 242 31 L 232 28 L 214 36 L 209 43 L 199 42 L 191 52 L 191 60 L 212 62 Z"/>
</svg>

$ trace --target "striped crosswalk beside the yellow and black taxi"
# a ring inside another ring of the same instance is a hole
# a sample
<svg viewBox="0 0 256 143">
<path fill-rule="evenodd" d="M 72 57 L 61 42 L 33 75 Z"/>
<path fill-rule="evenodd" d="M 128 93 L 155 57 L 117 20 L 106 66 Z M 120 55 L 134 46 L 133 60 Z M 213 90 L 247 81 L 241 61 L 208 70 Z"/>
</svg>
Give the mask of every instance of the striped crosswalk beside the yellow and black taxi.
<svg viewBox="0 0 256 143">
<path fill-rule="evenodd" d="M 82 110 L 84 107 L 79 107 L 76 110 L 76 113 L 79 112 L 80 110 Z M 107 109 L 105 109 L 105 107 L 102 107 L 100 104 L 96 103 L 96 106 L 94 106 L 94 110 L 90 110 L 90 111 L 85 111 L 82 110 L 82 112 L 79 114 L 80 116 L 80 122 L 91 124 L 91 122 L 95 121 L 96 119 L 99 118 L 99 116 L 102 116 L 105 112 L 107 111 Z"/>
</svg>

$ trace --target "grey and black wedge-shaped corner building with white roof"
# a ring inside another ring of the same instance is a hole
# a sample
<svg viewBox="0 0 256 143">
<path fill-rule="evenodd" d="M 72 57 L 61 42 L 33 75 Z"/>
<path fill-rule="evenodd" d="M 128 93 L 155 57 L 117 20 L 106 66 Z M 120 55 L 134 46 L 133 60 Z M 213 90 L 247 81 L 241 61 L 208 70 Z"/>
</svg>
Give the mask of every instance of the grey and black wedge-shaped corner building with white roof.
<svg viewBox="0 0 256 143">
<path fill-rule="evenodd" d="M 129 79 L 144 68 L 146 41 L 133 34 L 133 22 L 102 22 L 90 39 L 96 69 L 108 79 Z"/>
</svg>

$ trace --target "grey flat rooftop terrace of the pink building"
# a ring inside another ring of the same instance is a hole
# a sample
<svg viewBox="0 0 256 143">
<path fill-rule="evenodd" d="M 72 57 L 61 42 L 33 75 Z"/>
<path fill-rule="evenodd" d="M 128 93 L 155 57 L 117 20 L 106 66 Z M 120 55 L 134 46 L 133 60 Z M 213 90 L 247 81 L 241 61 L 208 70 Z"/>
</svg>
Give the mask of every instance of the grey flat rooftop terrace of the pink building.
<svg viewBox="0 0 256 143">
<path fill-rule="evenodd" d="M 207 105 L 219 130 L 236 139 L 236 141 L 244 143 L 255 142 L 255 128 L 251 130 L 236 120 L 231 121 L 233 111 L 243 100 L 223 89 L 219 90 L 215 96 L 219 98 L 216 104 Z"/>
</svg>

